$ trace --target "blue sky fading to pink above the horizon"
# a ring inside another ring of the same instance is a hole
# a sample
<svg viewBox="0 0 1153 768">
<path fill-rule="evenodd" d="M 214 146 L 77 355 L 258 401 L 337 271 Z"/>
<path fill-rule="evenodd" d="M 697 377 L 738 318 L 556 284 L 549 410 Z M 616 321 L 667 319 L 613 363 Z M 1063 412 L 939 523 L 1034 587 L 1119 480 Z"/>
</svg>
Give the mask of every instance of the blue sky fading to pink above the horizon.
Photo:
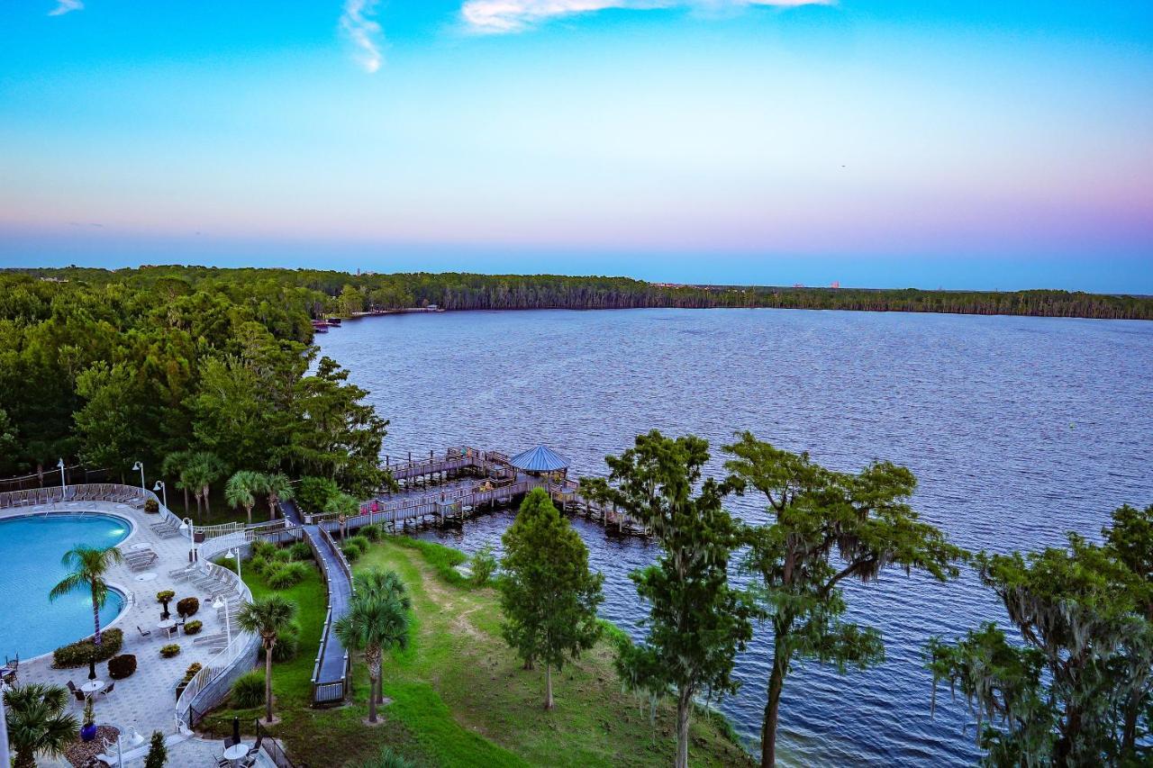
<svg viewBox="0 0 1153 768">
<path fill-rule="evenodd" d="M 2 0 L 0 266 L 1153 294 L 1153 3 Z"/>
</svg>

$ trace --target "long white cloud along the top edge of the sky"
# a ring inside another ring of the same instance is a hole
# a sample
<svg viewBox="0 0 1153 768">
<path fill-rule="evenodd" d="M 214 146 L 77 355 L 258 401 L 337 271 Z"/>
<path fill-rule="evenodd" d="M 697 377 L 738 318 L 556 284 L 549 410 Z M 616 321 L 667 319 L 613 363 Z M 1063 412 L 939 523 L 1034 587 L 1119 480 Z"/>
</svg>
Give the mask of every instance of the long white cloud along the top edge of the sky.
<svg viewBox="0 0 1153 768">
<path fill-rule="evenodd" d="M 557 16 L 608 8 L 733 8 L 745 6 L 829 6 L 835 0 L 465 0 L 460 13 L 474 32 L 520 32 Z"/>
</svg>

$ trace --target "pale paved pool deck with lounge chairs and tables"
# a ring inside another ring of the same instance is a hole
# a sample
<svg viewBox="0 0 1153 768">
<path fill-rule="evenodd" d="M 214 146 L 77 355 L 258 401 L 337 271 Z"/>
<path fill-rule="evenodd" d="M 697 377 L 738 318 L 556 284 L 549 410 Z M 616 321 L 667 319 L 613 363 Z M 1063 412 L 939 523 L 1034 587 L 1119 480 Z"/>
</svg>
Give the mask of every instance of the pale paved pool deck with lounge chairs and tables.
<svg viewBox="0 0 1153 768">
<path fill-rule="evenodd" d="M 121 564 L 113 566 L 108 573 L 108 583 L 120 589 L 126 596 L 125 610 L 108 626 L 123 630 L 125 642 L 120 653 L 135 654 L 137 667 L 131 677 L 122 680 L 110 680 L 107 663 L 101 662 L 96 665 L 99 679 L 105 683 L 115 683 L 115 690 L 112 693 L 96 695 L 97 724 L 114 725 L 120 729 L 121 733 L 128 736 L 131 736 L 131 730 L 135 729 L 145 739 L 152 731 L 158 730 L 168 736 L 174 744 L 184 741 L 186 736 L 175 733 L 176 683 L 183 678 L 184 670 L 189 664 L 194 662 L 203 664 L 217 653 L 208 645 L 195 645 L 193 640 L 196 637 L 226 631 L 224 619 L 218 618 L 217 611 L 211 605 L 211 598 L 204 590 L 190 582 L 176 581 L 168 577 L 169 571 L 188 564 L 189 541 L 176 536 L 161 539 L 149 527 L 159 520 L 159 515 L 146 514 L 128 504 L 113 502 L 70 502 L 5 509 L 0 510 L 0 518 L 81 511 L 101 512 L 131 520 L 135 529 L 128 539 L 121 542 L 120 547 L 125 550 L 131 550 L 134 544 L 146 543 L 158 555 L 158 559 L 146 571 L 134 572 L 127 564 Z M 153 575 L 151 579 L 146 577 L 142 579 L 141 577 L 144 574 Z M 176 597 L 169 603 L 173 618 L 176 618 L 175 605 L 181 597 L 195 596 L 201 601 L 199 611 L 194 618 L 203 622 L 204 627 L 198 635 L 180 634 L 171 640 L 171 642 L 178 642 L 181 648 L 180 654 L 173 658 L 161 658 L 159 654 L 160 647 L 169 642 L 166 634 L 157 628 L 161 607 L 156 601 L 156 594 L 163 589 L 173 589 L 176 593 Z M 18 617 L 15 618 L 18 620 Z M 151 634 L 142 637 L 137 626 L 151 631 Z M 0 654 L 3 652 L 5 649 L 0 648 Z M 10 655 L 12 652 L 8 653 Z M 88 683 L 88 667 L 53 669 L 51 654 L 20 662 L 18 682 L 21 684 L 67 685 L 68 680 L 71 680 L 77 688 Z M 83 715 L 84 705 L 74 698 L 69 702 L 69 710 L 80 718 Z M 190 743 L 188 746 L 173 747 L 168 765 L 208 766 L 211 763 L 210 753 L 219 754 L 223 751 L 223 741 L 206 741 L 197 738 L 187 740 Z M 211 745 L 211 748 L 205 745 Z M 145 743 L 144 747 L 146 746 Z M 265 759 L 263 753 L 262 759 Z M 134 758 L 131 761 L 126 759 L 125 765 L 141 765 L 142 761 L 143 758 Z M 39 765 L 54 763 L 42 759 Z M 60 765 L 68 763 L 61 762 Z"/>
</svg>

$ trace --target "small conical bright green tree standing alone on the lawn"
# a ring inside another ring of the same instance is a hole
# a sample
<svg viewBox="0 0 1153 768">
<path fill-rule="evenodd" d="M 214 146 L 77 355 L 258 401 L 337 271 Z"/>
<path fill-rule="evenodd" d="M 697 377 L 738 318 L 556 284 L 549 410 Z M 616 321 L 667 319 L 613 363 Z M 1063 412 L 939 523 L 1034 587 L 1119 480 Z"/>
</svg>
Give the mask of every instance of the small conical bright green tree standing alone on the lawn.
<svg viewBox="0 0 1153 768">
<path fill-rule="evenodd" d="M 544 708 L 551 709 L 552 670 L 601 635 L 604 577 L 589 572 L 588 548 L 542 488 L 525 497 L 502 541 L 502 633 L 527 665 L 544 662 Z"/>
</svg>

